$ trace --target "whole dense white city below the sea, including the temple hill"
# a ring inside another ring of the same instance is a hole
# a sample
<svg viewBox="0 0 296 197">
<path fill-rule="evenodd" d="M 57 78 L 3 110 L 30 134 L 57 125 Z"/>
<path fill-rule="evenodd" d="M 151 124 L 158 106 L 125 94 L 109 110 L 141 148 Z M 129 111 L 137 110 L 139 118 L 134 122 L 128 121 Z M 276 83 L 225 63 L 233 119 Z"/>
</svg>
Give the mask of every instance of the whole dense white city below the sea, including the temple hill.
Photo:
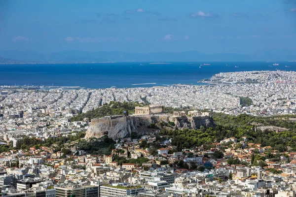
<svg viewBox="0 0 296 197">
<path fill-rule="evenodd" d="M 295 81 L 277 70 L 199 86 L 1 86 L 1 194 L 295 197 Z"/>
</svg>

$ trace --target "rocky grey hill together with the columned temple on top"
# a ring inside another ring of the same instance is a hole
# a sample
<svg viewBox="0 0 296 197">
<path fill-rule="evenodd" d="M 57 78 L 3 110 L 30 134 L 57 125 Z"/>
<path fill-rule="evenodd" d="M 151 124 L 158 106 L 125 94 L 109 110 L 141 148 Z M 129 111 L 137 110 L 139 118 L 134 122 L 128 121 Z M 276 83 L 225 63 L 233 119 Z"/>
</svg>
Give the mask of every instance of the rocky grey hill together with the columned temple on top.
<svg viewBox="0 0 296 197">
<path fill-rule="evenodd" d="M 157 111 L 151 114 L 151 108 Z M 116 115 L 92 119 L 86 131 L 86 138 L 102 137 L 105 134 L 112 139 L 129 137 L 132 132 L 144 135 L 161 129 L 199 129 L 201 126 L 213 127 L 213 119 L 208 113 L 197 111 L 162 113 L 162 106 L 135 107 L 136 113 L 130 116 Z M 140 113 L 140 114 L 137 114 Z"/>
</svg>

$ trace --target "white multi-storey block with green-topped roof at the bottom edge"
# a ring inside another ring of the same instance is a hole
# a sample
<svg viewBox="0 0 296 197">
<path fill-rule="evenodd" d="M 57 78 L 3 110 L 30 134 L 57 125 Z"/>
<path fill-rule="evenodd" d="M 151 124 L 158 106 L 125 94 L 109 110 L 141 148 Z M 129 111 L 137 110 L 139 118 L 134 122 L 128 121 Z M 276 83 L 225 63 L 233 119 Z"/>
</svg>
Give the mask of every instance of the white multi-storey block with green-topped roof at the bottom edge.
<svg viewBox="0 0 296 197">
<path fill-rule="evenodd" d="M 139 192 L 143 192 L 145 189 L 142 186 L 136 185 L 104 185 L 100 186 L 100 197 L 126 197 L 136 196 Z"/>
</svg>

